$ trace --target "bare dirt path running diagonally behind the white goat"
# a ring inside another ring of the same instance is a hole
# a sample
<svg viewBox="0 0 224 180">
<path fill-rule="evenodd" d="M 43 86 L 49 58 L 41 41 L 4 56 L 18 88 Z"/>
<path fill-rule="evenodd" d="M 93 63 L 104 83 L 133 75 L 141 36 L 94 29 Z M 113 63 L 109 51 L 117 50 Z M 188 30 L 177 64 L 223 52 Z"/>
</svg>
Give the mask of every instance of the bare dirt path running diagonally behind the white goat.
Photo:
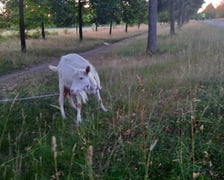
<svg viewBox="0 0 224 180">
<path fill-rule="evenodd" d="M 96 47 L 92 50 L 80 53 L 81 56 L 88 59 L 90 62 L 97 61 L 100 59 L 103 53 L 110 52 L 113 48 L 122 47 L 128 43 L 140 39 L 145 39 L 147 34 L 142 34 L 139 36 L 131 37 L 114 44 L 104 44 L 102 46 Z M 49 75 L 50 71 L 48 69 L 49 64 L 56 65 L 59 59 L 54 59 L 50 63 L 40 64 L 36 66 L 27 67 L 23 70 L 13 72 L 11 74 L 0 76 L 0 92 L 1 94 L 6 91 L 15 91 L 19 84 L 32 82 L 35 79 L 41 79 Z"/>
</svg>

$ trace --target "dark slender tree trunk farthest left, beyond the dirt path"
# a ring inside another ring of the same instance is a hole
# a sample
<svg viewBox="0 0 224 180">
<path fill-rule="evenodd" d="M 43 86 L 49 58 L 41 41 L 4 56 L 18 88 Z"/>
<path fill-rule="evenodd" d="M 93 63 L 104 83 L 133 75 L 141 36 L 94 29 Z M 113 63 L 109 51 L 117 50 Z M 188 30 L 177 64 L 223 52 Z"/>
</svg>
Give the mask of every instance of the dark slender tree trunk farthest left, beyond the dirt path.
<svg viewBox="0 0 224 180">
<path fill-rule="evenodd" d="M 26 37 L 25 37 L 25 24 L 24 24 L 24 3 L 19 0 L 19 32 L 21 41 L 21 51 L 26 52 Z"/>
</svg>

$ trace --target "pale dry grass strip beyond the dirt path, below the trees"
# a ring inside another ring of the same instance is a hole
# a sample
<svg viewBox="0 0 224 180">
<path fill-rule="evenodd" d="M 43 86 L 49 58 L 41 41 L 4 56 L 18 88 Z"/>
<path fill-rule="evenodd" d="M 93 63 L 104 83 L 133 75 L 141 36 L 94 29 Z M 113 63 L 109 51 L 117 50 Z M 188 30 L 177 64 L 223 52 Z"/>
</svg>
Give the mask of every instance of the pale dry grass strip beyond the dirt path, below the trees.
<svg viewBox="0 0 224 180">
<path fill-rule="evenodd" d="M 122 27 L 113 30 L 110 36 L 107 29 L 97 32 L 84 31 L 84 39 L 79 41 L 78 34 L 71 30 L 55 30 L 46 40 L 41 38 L 28 38 L 26 40 L 27 52 L 20 52 L 20 40 L 16 35 L 0 38 L 0 75 L 14 70 L 22 69 L 30 65 L 49 62 L 58 59 L 62 54 L 71 52 L 84 52 L 94 47 L 103 45 L 104 42 L 113 43 L 122 39 L 146 32 L 146 26 L 140 29 L 131 27 L 129 33 L 125 33 Z M 75 31 L 75 29 L 73 29 Z M 31 36 L 32 37 L 32 36 Z"/>
</svg>

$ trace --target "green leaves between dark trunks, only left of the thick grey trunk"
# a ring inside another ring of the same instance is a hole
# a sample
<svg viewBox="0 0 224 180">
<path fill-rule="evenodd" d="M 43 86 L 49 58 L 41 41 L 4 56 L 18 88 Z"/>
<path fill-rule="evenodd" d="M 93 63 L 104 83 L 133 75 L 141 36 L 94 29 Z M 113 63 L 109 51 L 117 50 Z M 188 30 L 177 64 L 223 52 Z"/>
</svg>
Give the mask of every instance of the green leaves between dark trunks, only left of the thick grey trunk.
<svg viewBox="0 0 224 180">
<path fill-rule="evenodd" d="M 142 4 L 143 0 L 136 2 L 130 1 L 133 8 L 125 10 L 122 15 L 122 4 L 117 1 L 98 1 L 91 0 L 90 8 L 83 11 L 84 24 L 91 22 L 98 24 L 108 24 L 112 21 L 119 23 L 122 16 L 129 16 L 128 21 L 136 21 L 142 23 L 146 14 L 146 9 Z M 74 26 L 78 22 L 77 19 L 77 3 L 75 1 L 64 0 L 44 0 L 44 1 L 24 1 L 25 4 L 25 24 L 26 29 L 39 27 L 42 22 L 45 25 L 57 27 Z M 124 6 L 123 6 L 124 7 Z M 139 11 L 141 9 L 141 11 Z M 135 16 L 135 17 L 134 17 Z M 141 18 L 141 19 L 140 19 Z M 5 12 L 1 15 L 3 22 L 1 27 L 18 27 L 18 2 L 9 0 L 5 2 Z M 126 18 L 127 19 L 127 18 Z M 126 20 L 125 20 L 126 21 Z"/>
</svg>

